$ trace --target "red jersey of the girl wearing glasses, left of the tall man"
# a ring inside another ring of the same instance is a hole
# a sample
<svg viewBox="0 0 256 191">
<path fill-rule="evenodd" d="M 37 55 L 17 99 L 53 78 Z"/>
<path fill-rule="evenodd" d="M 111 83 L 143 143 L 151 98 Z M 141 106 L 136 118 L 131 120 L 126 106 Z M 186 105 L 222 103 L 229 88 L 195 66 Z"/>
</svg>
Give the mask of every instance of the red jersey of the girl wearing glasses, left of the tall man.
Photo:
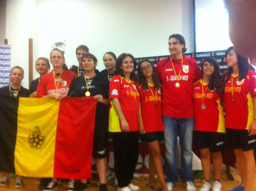
<svg viewBox="0 0 256 191">
<path fill-rule="evenodd" d="M 150 91 L 150 89 L 151 91 Z M 140 116 L 146 133 L 163 131 L 164 125 L 162 121 L 162 101 L 161 101 L 161 89 L 156 90 L 154 85 L 149 84 L 149 87 L 144 90 L 142 86 L 138 88 L 140 94 Z M 152 95 L 154 94 L 154 96 Z M 155 108 L 157 104 L 157 108 Z"/>
</svg>

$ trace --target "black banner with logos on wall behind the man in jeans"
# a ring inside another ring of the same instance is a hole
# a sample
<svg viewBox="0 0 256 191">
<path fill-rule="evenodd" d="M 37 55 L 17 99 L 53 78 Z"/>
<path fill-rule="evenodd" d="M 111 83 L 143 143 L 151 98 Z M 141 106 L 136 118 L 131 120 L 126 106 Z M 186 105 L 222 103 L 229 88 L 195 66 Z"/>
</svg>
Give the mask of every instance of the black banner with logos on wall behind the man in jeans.
<svg viewBox="0 0 256 191">
<path fill-rule="evenodd" d="M 215 59 L 217 59 L 217 62 L 219 63 L 220 71 L 224 72 L 228 68 L 226 57 L 225 57 L 225 51 L 226 50 L 217 50 L 217 51 L 209 51 L 209 52 L 192 52 L 192 53 L 184 53 L 184 55 L 188 58 L 195 59 L 199 67 L 201 67 L 201 63 L 204 61 L 205 57 L 212 56 Z M 170 57 L 170 55 L 136 58 L 136 62 L 137 62 L 136 68 L 138 68 L 138 63 L 141 62 L 142 60 L 149 59 L 156 66 L 160 60 L 165 59 L 167 57 Z"/>
</svg>

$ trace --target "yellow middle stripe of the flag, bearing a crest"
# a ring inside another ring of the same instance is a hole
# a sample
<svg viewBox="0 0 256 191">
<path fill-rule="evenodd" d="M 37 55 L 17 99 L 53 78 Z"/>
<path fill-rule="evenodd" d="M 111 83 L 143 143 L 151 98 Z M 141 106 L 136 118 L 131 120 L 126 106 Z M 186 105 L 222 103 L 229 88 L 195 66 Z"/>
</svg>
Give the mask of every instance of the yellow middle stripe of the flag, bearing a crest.
<svg viewBox="0 0 256 191">
<path fill-rule="evenodd" d="M 55 99 L 19 98 L 14 152 L 17 175 L 53 177 L 59 106 Z"/>
</svg>

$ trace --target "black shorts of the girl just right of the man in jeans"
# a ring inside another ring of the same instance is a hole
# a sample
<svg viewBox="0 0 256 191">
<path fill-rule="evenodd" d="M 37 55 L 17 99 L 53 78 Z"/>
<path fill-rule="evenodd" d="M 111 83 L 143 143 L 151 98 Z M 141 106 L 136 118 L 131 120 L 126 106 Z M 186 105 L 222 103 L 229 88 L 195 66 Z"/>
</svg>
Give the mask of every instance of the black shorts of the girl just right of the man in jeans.
<svg viewBox="0 0 256 191">
<path fill-rule="evenodd" d="M 211 152 L 222 151 L 226 146 L 226 134 L 219 132 L 194 131 L 194 141 L 199 149 L 209 148 Z"/>
</svg>

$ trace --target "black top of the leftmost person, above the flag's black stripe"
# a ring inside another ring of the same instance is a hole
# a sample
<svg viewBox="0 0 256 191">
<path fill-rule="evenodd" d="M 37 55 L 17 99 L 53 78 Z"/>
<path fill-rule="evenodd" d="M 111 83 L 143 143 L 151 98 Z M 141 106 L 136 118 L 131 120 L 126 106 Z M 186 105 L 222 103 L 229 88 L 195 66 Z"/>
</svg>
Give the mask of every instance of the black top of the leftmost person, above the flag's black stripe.
<svg viewBox="0 0 256 191">
<path fill-rule="evenodd" d="M 9 89 L 9 85 L 5 86 L 3 88 L 0 88 L 0 95 L 7 95 L 10 97 L 15 97 L 15 95 L 17 93 L 18 93 L 17 98 L 18 97 L 29 98 L 29 95 L 30 95 L 30 91 L 26 88 L 23 88 L 22 86 L 19 91 L 18 91 L 18 89 L 13 89 L 12 87 L 10 87 L 10 89 Z"/>
</svg>

